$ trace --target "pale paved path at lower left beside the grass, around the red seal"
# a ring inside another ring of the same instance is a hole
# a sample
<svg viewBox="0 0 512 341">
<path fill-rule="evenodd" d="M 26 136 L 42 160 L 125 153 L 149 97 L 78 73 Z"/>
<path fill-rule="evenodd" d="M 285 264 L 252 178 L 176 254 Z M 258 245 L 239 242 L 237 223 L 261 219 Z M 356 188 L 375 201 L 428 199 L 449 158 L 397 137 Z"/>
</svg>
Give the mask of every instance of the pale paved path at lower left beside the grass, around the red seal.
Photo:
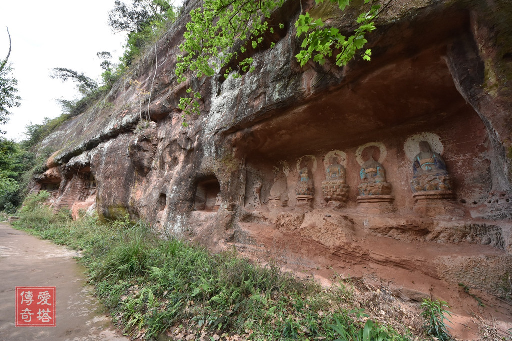
<svg viewBox="0 0 512 341">
<path fill-rule="evenodd" d="M 77 252 L 0 223 L 0 340 L 129 340 L 85 286 Z M 56 327 L 15 327 L 15 287 L 56 287 Z"/>
</svg>

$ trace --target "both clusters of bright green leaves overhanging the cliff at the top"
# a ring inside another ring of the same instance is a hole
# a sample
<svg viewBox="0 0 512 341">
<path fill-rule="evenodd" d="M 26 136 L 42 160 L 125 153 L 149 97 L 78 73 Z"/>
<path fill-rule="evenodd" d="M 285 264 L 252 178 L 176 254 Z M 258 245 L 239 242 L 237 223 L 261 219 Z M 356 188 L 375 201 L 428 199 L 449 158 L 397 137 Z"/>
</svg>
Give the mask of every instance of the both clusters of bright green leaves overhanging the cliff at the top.
<svg viewBox="0 0 512 341">
<path fill-rule="evenodd" d="M 299 0 L 301 1 L 301 0 Z M 321 4 L 324 0 L 315 0 Z M 345 10 L 351 0 L 328 0 Z M 391 3 L 392 0 L 388 0 Z M 178 58 L 176 74 L 178 81 L 187 79 L 189 72 L 195 77 L 212 76 L 224 71 L 233 60 L 242 58 L 237 70 L 227 68 L 225 77 L 240 72 L 254 71 L 253 59 L 244 53 L 262 46 L 264 34 L 274 33 L 278 26 L 270 25 L 272 13 L 282 7 L 286 0 L 204 0 L 202 6 L 190 12 L 185 41 L 180 45 L 183 52 Z M 367 40 L 366 34 L 375 29 L 374 20 L 381 9 L 377 0 L 365 0 L 366 10 L 355 20 L 356 26 L 350 37 L 343 36 L 336 28 L 327 27 L 321 18 L 313 19 L 309 13 L 300 15 L 295 23 L 297 37 L 304 36 L 302 51 L 296 56 L 301 66 L 313 58 L 321 64 L 336 52 L 335 64 L 347 65 Z M 302 8 L 302 3 L 301 3 Z M 279 25 L 283 29 L 283 24 Z M 274 44 L 271 44 L 273 47 Z M 364 52 L 364 59 L 370 60 L 371 50 Z M 188 89 L 189 97 L 181 98 L 180 109 L 186 114 L 199 114 L 198 90 Z M 185 123 L 186 124 L 186 123 Z"/>
</svg>

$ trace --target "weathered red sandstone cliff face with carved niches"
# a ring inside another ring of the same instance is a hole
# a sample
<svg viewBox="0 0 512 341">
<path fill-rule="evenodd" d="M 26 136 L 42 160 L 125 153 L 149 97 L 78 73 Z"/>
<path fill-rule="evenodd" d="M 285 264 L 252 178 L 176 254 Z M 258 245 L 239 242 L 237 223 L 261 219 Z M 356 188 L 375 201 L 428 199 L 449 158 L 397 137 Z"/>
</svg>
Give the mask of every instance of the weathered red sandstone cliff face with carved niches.
<svg viewBox="0 0 512 341">
<path fill-rule="evenodd" d="M 316 278 L 364 279 L 402 300 L 440 297 L 462 324 L 468 311 L 493 310 L 499 327 L 510 328 L 509 4 L 396 0 L 370 37 L 372 61 L 332 70 L 295 61 L 299 11 L 291 2 L 276 13 L 288 25 L 274 49 L 254 55 L 258 72 L 190 81 L 205 101 L 188 128 L 177 109 L 185 88 L 174 75 L 184 15 L 157 46 L 166 61 L 149 103 L 153 122 L 138 126 L 137 89 L 117 84 L 106 99 L 113 108 L 100 103 L 44 141 L 59 152 L 38 186 L 55 190 L 55 207 L 129 213 Z M 148 51 L 132 73 L 146 90 L 154 56 Z M 421 141 L 449 177 L 429 194 L 411 188 Z M 376 191 L 362 196 L 372 153 L 385 179 L 370 181 Z M 342 184 L 331 177 L 333 157 L 345 191 L 326 201 L 324 186 Z M 459 283 L 493 308 L 477 307 Z"/>
</svg>

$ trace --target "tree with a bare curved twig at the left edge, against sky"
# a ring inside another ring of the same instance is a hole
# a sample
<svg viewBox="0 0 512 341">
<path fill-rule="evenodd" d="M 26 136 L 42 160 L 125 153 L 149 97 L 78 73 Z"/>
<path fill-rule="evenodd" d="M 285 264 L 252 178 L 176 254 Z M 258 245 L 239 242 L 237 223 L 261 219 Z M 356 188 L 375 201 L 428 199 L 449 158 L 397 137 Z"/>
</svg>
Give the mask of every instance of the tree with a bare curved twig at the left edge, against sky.
<svg viewBox="0 0 512 341">
<path fill-rule="evenodd" d="M 9 53 L 4 60 L 0 61 L 0 124 L 5 124 L 9 120 L 8 115 L 11 114 L 9 109 L 17 108 L 21 105 L 19 102 L 21 98 L 16 96 L 18 92 L 16 89 L 18 81 L 10 75 L 12 68 L 8 63 L 12 50 L 9 28 L 7 28 L 7 34 L 9 35 Z M 6 132 L 0 131 L 0 134 L 5 133 Z"/>
</svg>

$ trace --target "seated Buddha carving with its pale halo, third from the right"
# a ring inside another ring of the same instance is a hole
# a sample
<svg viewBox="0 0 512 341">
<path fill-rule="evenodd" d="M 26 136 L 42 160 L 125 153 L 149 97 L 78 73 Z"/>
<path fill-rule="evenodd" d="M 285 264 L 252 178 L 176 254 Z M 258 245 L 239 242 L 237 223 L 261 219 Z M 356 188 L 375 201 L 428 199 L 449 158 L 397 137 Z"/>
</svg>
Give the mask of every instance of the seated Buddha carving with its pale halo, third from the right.
<svg viewBox="0 0 512 341">
<path fill-rule="evenodd" d="M 343 152 L 335 151 L 326 155 L 326 179 L 322 182 L 322 191 L 327 202 L 345 203 L 349 198 L 349 186 L 346 182 L 347 172 L 342 164 L 346 160 L 346 154 Z"/>
</svg>

